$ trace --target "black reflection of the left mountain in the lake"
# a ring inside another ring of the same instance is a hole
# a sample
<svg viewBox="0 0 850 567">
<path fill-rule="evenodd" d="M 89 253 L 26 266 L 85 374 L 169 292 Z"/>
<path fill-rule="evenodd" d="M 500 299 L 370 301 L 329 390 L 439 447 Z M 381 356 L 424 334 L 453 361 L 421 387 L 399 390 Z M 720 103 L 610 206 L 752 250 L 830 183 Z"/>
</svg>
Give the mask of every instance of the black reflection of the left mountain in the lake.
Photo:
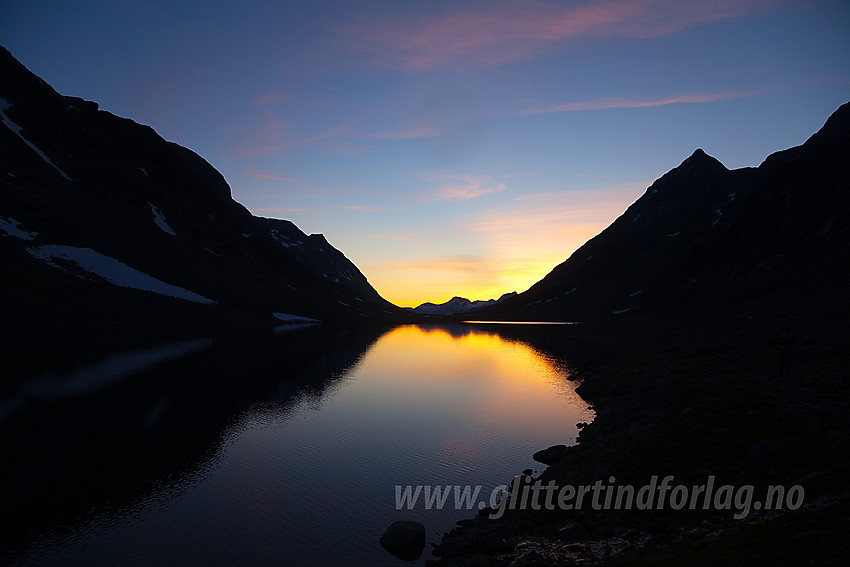
<svg viewBox="0 0 850 567">
<path fill-rule="evenodd" d="M 380 333 L 322 325 L 181 343 L 149 354 L 185 356 L 138 372 L 113 371 L 141 362 L 135 352 L 107 357 L 88 376 L 77 369 L 21 385 L 0 400 L 0 502 L 11 520 L 0 548 L 194 474 L 246 410 L 285 406 L 305 392 L 321 397 Z"/>
</svg>

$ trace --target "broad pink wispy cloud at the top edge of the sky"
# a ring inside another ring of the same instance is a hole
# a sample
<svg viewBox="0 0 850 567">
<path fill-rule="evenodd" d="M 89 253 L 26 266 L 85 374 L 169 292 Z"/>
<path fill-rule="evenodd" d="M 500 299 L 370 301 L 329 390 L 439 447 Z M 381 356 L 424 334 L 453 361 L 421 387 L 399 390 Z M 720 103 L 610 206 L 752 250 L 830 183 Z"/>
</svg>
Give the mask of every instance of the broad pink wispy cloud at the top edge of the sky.
<svg viewBox="0 0 850 567">
<path fill-rule="evenodd" d="M 415 22 L 372 18 L 351 25 L 343 34 L 350 49 L 367 52 L 374 64 L 417 71 L 458 61 L 473 65 L 518 61 L 554 43 L 579 38 L 660 37 L 792 6 L 791 0 L 494 2 L 480 12 L 454 9 Z"/>
</svg>

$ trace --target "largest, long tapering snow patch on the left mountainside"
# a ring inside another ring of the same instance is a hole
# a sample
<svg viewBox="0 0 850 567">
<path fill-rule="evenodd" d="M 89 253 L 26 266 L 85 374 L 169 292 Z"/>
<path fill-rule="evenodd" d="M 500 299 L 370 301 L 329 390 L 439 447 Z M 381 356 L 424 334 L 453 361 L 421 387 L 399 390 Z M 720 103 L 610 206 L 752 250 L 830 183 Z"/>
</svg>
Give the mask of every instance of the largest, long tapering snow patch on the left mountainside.
<svg viewBox="0 0 850 567">
<path fill-rule="evenodd" d="M 100 276 L 119 287 L 152 291 L 161 295 L 185 299 L 186 301 L 194 301 L 195 303 L 215 303 L 212 299 L 207 299 L 182 287 L 167 284 L 153 276 L 131 268 L 115 258 L 95 252 L 91 248 L 47 244 L 45 246 L 28 248 L 27 252 L 35 258 L 44 260 L 55 268 L 59 268 L 60 266 L 54 260 L 70 260 L 83 270 Z"/>
</svg>

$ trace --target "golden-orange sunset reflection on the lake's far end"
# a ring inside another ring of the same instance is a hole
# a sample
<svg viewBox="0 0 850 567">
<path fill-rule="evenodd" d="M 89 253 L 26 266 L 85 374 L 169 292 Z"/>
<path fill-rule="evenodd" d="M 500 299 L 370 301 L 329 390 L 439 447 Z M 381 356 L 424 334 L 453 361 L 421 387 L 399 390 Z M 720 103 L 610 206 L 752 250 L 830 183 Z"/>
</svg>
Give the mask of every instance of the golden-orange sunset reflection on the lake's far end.
<svg viewBox="0 0 850 567">
<path fill-rule="evenodd" d="M 593 416 L 562 364 L 528 344 L 474 327 L 397 327 L 355 372 L 358 379 L 348 387 L 382 403 L 412 413 L 423 403 L 437 412 L 453 408 L 468 420 L 514 425 L 530 437 L 559 430 L 553 443 L 573 441 L 575 424 Z"/>
</svg>

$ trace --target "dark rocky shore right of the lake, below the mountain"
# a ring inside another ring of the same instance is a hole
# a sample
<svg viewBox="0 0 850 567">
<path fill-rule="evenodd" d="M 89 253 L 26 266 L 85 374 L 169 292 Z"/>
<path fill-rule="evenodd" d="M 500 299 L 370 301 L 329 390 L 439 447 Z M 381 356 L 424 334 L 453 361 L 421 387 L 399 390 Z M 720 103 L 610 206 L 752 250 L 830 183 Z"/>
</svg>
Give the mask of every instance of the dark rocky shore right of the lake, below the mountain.
<svg viewBox="0 0 850 567">
<path fill-rule="evenodd" d="M 426 565 L 824 564 L 845 557 L 847 323 L 825 328 L 803 307 L 784 317 L 765 309 L 683 321 L 588 323 L 572 330 L 581 333 L 574 337 L 580 355 L 575 347 L 572 359 L 569 347 L 544 349 L 577 363 L 577 391 L 596 418 L 536 479 L 575 486 L 613 476 L 643 486 L 672 475 L 695 486 L 712 476 L 718 485 L 752 485 L 756 495 L 770 485 L 799 485 L 802 506 L 751 510 L 741 519 L 733 510 L 586 506 L 507 510 L 490 520 L 485 509 L 445 534 Z"/>
</svg>

